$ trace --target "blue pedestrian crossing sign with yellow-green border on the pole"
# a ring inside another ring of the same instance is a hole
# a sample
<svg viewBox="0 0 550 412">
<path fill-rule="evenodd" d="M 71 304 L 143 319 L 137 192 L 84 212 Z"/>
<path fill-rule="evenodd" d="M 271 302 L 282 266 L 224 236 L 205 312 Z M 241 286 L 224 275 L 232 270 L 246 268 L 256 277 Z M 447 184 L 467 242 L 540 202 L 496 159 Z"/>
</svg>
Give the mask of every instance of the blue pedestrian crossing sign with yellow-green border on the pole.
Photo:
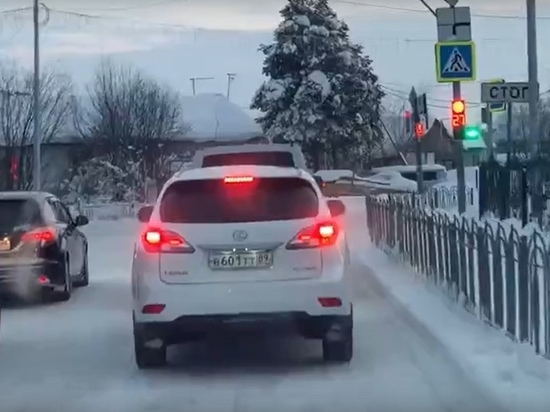
<svg viewBox="0 0 550 412">
<path fill-rule="evenodd" d="M 435 67 L 438 83 L 475 81 L 476 53 L 474 42 L 436 43 Z"/>
</svg>

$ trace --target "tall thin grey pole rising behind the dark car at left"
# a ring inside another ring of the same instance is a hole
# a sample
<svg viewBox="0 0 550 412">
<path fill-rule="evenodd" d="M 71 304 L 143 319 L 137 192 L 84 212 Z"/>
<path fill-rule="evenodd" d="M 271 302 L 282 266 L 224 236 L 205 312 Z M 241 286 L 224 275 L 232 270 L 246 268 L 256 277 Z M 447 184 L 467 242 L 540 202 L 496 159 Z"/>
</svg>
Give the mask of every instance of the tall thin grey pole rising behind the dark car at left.
<svg viewBox="0 0 550 412">
<path fill-rule="evenodd" d="M 40 190 L 41 176 L 41 147 L 42 143 L 42 112 L 40 107 L 40 22 L 39 22 L 38 0 L 33 4 L 33 26 L 34 26 L 34 73 L 33 73 L 33 112 L 34 112 L 34 184 L 35 191 Z"/>
</svg>

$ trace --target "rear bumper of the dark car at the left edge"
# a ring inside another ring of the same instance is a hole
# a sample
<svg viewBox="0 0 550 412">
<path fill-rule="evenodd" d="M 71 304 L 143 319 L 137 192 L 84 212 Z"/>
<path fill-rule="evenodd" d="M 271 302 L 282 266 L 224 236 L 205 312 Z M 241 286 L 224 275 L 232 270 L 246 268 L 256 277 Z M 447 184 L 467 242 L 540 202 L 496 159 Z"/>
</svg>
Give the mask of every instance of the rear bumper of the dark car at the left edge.
<svg viewBox="0 0 550 412">
<path fill-rule="evenodd" d="M 29 286 L 62 286 L 63 271 L 59 269 L 59 262 L 47 260 L 0 265 L 0 293 L 17 293 Z"/>
</svg>

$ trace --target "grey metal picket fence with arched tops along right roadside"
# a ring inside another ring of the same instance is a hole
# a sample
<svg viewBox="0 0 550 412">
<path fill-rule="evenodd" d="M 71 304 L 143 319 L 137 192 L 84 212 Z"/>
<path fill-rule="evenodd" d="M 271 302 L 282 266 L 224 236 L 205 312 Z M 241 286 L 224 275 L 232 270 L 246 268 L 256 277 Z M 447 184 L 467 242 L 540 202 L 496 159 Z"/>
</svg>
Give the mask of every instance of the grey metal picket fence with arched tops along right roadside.
<svg viewBox="0 0 550 412">
<path fill-rule="evenodd" d="M 480 319 L 550 355 L 550 248 L 541 232 L 366 197 L 373 242 Z"/>
</svg>

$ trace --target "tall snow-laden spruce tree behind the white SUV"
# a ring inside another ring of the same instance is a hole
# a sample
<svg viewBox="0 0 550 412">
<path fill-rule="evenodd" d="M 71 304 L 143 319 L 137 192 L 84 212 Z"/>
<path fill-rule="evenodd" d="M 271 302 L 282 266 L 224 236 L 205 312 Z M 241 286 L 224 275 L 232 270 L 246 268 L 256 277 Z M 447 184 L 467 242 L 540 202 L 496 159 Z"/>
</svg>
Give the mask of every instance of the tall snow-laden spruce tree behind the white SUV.
<svg viewBox="0 0 550 412">
<path fill-rule="evenodd" d="M 273 141 L 294 141 L 319 168 L 329 155 L 368 155 L 382 139 L 381 91 L 372 61 L 349 39 L 349 27 L 327 0 L 289 0 L 274 42 L 260 46 L 264 82 L 251 107 Z"/>
</svg>

